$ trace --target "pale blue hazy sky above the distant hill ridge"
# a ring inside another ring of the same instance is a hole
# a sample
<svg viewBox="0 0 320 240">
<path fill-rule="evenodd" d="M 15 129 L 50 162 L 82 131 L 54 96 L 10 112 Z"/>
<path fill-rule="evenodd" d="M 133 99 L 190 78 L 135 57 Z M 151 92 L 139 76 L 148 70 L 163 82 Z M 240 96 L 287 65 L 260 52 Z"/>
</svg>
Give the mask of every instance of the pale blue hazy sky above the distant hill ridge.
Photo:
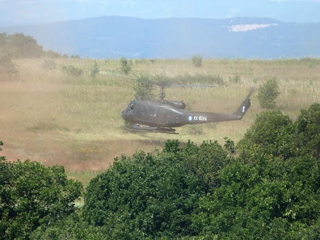
<svg viewBox="0 0 320 240">
<path fill-rule="evenodd" d="M 93 16 L 142 18 L 236 16 L 320 22 L 320 0 L 0 0 L 0 24 L 43 23 Z"/>
</svg>

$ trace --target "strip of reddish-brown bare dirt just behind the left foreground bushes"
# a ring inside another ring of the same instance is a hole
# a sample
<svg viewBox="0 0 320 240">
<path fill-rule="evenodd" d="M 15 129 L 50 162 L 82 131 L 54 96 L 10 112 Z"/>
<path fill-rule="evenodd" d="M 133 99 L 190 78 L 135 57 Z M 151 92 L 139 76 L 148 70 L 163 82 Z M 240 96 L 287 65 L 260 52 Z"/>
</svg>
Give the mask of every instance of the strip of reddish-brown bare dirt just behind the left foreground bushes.
<svg viewBox="0 0 320 240">
<path fill-rule="evenodd" d="M 53 133 L 53 132 L 52 132 Z M 131 155 L 136 149 L 151 151 L 154 147 L 162 147 L 162 143 L 149 140 L 99 140 L 78 143 L 67 139 L 54 138 L 48 135 L 25 133 L 15 139 L 11 135 L 0 131 L 4 141 L 1 155 L 8 160 L 25 160 L 42 162 L 44 165 L 63 165 L 67 170 L 93 170 L 107 169 L 115 156 L 121 154 Z"/>
</svg>

